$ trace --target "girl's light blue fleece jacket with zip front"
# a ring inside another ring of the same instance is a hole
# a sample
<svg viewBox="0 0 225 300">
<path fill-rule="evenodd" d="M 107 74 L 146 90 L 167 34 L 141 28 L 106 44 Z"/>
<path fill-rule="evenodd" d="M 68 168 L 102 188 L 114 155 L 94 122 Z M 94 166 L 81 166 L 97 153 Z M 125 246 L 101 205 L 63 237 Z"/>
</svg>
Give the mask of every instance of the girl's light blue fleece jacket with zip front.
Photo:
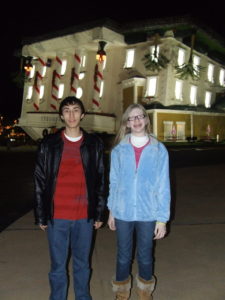
<svg viewBox="0 0 225 300">
<path fill-rule="evenodd" d="M 111 152 L 108 209 L 123 221 L 167 222 L 170 216 L 169 159 L 165 146 L 150 136 L 136 169 L 130 135 Z"/>
</svg>

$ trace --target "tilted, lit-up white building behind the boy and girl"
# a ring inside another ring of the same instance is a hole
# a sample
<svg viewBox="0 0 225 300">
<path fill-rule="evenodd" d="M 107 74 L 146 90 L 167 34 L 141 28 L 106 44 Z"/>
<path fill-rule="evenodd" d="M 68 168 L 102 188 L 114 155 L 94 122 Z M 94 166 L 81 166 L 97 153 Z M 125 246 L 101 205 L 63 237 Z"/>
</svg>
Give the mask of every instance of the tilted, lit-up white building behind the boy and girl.
<svg viewBox="0 0 225 300">
<path fill-rule="evenodd" d="M 193 29 L 192 66 L 203 71 L 198 80 L 181 79 L 176 67 L 189 61 Z M 96 53 L 101 42 L 107 58 L 99 63 Z M 205 52 L 206 47 L 214 56 Z M 212 137 L 225 138 L 225 112 L 211 109 L 225 86 L 225 48 L 219 39 L 187 21 L 123 26 L 99 21 L 27 41 L 22 56 L 33 68 L 26 75 L 19 125 L 33 139 L 41 138 L 44 129 L 50 132 L 62 126 L 57 110 L 69 95 L 84 102 L 87 115 L 82 127 L 88 131 L 114 134 L 124 109 L 142 103 L 159 139 L 174 134 L 177 140 L 202 138 L 208 125 Z M 159 70 L 162 58 L 166 60 Z"/>
</svg>

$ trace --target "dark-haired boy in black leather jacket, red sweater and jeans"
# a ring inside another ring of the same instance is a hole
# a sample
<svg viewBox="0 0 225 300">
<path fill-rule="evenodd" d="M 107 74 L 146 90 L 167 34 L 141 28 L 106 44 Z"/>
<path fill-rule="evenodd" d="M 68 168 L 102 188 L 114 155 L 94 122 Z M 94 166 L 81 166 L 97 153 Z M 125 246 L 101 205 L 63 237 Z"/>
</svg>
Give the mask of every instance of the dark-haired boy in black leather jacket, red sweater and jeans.
<svg viewBox="0 0 225 300">
<path fill-rule="evenodd" d="M 44 138 L 35 165 L 35 221 L 47 229 L 50 300 L 67 298 L 69 248 L 76 300 L 92 299 L 89 255 L 93 227 L 102 225 L 105 185 L 103 144 L 80 127 L 84 115 L 79 99 L 61 102 L 59 116 L 65 128 Z"/>
</svg>

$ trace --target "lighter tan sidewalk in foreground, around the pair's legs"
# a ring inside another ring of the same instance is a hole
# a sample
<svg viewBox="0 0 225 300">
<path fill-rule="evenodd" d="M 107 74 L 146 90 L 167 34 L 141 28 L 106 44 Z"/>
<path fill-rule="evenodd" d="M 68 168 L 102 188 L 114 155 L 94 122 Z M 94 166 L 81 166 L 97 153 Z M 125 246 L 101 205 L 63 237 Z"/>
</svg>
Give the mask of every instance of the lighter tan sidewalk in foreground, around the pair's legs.
<svg viewBox="0 0 225 300">
<path fill-rule="evenodd" d="M 48 299 L 47 241 L 32 223 L 30 212 L 0 235 L 1 300 Z M 225 224 L 172 226 L 169 236 L 156 245 L 154 300 L 224 300 L 224 237 Z M 114 299 L 110 286 L 114 260 L 115 234 L 104 227 L 98 231 L 92 259 L 93 300 Z M 136 271 L 135 263 L 133 274 Z M 68 300 L 72 299 L 70 286 Z"/>
</svg>

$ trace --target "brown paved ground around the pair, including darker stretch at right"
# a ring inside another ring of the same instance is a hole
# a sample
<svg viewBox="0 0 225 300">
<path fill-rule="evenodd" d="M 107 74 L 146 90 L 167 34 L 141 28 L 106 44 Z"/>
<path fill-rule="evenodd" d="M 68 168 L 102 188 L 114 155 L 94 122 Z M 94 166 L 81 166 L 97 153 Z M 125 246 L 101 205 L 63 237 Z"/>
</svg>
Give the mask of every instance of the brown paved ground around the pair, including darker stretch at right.
<svg viewBox="0 0 225 300">
<path fill-rule="evenodd" d="M 225 299 L 224 173 L 225 164 L 218 163 L 171 170 L 172 221 L 168 236 L 155 247 L 154 300 Z M 105 226 L 97 232 L 92 256 L 94 300 L 113 299 L 115 249 L 115 233 Z M 0 299 L 47 300 L 48 270 L 45 233 L 28 212 L 0 234 Z M 131 300 L 137 299 L 135 289 Z"/>
</svg>

